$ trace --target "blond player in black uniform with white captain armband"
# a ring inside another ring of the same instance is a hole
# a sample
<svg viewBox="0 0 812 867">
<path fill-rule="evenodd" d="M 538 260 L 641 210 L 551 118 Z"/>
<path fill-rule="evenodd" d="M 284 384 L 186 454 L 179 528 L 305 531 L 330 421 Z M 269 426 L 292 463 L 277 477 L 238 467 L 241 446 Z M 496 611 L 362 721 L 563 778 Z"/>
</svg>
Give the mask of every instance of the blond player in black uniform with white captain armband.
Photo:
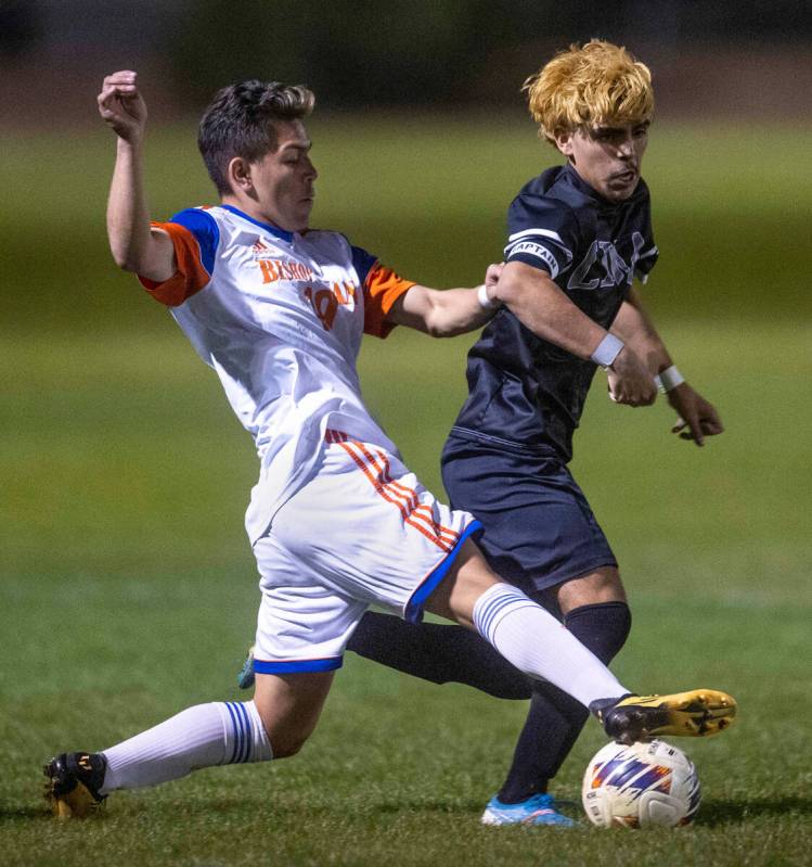
<svg viewBox="0 0 812 867">
<path fill-rule="evenodd" d="M 617 561 L 567 463 L 598 368 L 618 404 L 647 406 L 657 386 L 682 438 L 722 432 L 684 382 L 640 297 L 657 262 L 641 162 L 654 112 L 650 74 L 624 49 L 593 40 L 556 55 L 525 85 L 542 136 L 566 156 L 530 180 L 507 214 L 502 309 L 468 354 L 468 397 L 442 454 L 454 508 L 485 526 L 490 565 L 554 611 L 608 663 L 631 615 Z M 571 825 L 547 785 L 587 711 L 531 683 L 465 629 L 376 613 L 348 649 L 435 683 L 530 699 L 513 765 L 482 821 Z"/>
</svg>

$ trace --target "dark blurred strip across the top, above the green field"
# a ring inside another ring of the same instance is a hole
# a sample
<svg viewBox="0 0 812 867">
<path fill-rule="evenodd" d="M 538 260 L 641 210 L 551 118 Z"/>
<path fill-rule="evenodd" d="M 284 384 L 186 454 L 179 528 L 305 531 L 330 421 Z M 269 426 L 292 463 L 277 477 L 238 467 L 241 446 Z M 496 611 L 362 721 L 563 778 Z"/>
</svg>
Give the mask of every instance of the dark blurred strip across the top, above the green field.
<svg viewBox="0 0 812 867">
<path fill-rule="evenodd" d="M 17 122 L 80 122 L 80 82 L 138 65 L 192 114 L 246 77 L 306 82 L 331 109 L 520 111 L 524 78 L 593 36 L 656 71 L 661 117 L 812 109 L 812 5 L 801 0 L 7 0 L 0 107 Z"/>
</svg>

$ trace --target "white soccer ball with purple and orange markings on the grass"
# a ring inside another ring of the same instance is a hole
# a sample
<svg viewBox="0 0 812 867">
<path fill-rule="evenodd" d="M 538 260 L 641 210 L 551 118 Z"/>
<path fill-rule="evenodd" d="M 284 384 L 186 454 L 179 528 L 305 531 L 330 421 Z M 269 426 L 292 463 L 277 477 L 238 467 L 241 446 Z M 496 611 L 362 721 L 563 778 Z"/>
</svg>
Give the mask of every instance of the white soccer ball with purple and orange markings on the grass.
<svg viewBox="0 0 812 867">
<path fill-rule="evenodd" d="M 701 790 L 694 763 L 662 740 L 607 743 L 587 766 L 581 800 L 598 828 L 688 825 Z"/>
</svg>

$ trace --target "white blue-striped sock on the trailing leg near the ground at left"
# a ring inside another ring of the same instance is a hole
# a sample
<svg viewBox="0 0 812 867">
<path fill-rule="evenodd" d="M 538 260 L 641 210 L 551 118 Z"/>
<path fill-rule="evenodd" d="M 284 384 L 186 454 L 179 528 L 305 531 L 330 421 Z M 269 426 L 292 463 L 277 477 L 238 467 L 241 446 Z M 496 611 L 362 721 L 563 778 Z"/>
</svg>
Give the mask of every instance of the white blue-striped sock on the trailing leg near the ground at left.
<svg viewBox="0 0 812 867">
<path fill-rule="evenodd" d="M 211 765 L 267 762 L 271 744 L 256 705 L 211 702 L 176 716 L 104 751 L 102 794 L 185 777 Z"/>
</svg>

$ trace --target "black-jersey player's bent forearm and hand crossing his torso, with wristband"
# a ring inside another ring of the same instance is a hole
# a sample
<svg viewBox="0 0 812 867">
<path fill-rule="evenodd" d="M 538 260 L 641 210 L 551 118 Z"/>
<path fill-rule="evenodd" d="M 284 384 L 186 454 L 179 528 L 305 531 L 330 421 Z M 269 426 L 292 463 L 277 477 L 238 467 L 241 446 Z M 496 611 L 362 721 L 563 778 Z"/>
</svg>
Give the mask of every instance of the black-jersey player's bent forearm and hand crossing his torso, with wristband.
<svg viewBox="0 0 812 867">
<path fill-rule="evenodd" d="M 607 369 L 609 393 L 618 404 L 646 406 L 657 397 L 654 379 L 630 346 L 607 352 L 607 332 L 580 310 L 552 279 L 530 265 L 508 262 L 495 289 L 497 297 L 525 328 L 578 358 L 592 358 Z M 617 344 L 617 342 L 616 342 Z"/>
</svg>

